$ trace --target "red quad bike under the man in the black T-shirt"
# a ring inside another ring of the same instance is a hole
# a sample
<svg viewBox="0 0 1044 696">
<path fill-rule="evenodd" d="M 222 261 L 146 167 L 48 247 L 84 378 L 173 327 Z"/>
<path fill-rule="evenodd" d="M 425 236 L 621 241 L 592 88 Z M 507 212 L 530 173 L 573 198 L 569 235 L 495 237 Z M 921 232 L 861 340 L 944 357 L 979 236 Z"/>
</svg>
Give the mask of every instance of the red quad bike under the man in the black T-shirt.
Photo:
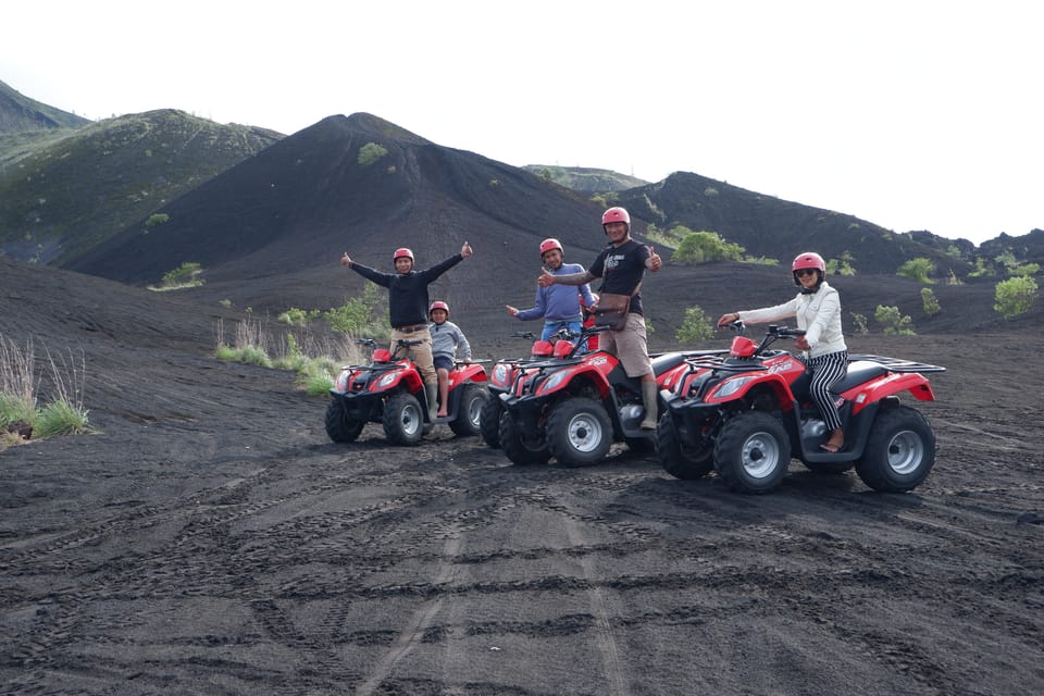
<svg viewBox="0 0 1044 696">
<path fill-rule="evenodd" d="M 638 427 L 645 415 L 639 382 L 611 353 L 583 351 L 584 338 L 606 328 L 584 327 L 579 335 L 563 331 L 570 340 L 555 344 L 549 358 L 515 362 L 500 376 L 494 369 L 494 382 L 510 373 L 508 388 L 497 398 L 500 448 L 512 463 L 543 464 L 554 457 L 564 467 L 582 467 L 604 459 L 614 442 L 639 451 L 654 446 L 655 431 Z M 657 356 L 654 373 L 666 374 L 694 355 Z"/>
</svg>

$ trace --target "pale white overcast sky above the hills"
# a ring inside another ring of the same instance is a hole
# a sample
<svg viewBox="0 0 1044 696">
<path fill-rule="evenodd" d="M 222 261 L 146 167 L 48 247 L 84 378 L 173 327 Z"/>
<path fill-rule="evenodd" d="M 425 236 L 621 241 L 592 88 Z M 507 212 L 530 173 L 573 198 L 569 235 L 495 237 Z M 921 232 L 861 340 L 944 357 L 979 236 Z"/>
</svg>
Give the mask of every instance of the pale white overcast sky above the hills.
<svg viewBox="0 0 1044 696">
<path fill-rule="evenodd" d="M 695 172 L 975 243 L 1044 228 L 1028 0 L 4 2 L 0 80 L 88 119 L 369 112 L 508 164 Z"/>
</svg>

